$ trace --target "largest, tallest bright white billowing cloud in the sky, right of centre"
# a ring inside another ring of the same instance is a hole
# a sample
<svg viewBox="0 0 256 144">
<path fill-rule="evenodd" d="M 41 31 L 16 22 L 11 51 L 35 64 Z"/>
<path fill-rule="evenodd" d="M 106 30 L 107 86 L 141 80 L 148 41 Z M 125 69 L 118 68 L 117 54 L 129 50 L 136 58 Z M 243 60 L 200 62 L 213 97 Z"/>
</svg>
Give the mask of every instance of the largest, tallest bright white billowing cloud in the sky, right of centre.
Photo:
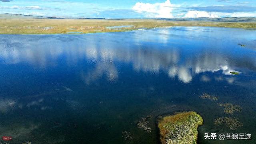
<svg viewBox="0 0 256 144">
<path fill-rule="evenodd" d="M 171 4 L 170 0 L 166 0 L 166 2 L 155 4 L 137 2 L 134 6 L 132 6 L 132 10 L 135 10 L 139 13 L 145 12 L 146 17 L 173 18 L 173 7 L 174 5 Z"/>
</svg>

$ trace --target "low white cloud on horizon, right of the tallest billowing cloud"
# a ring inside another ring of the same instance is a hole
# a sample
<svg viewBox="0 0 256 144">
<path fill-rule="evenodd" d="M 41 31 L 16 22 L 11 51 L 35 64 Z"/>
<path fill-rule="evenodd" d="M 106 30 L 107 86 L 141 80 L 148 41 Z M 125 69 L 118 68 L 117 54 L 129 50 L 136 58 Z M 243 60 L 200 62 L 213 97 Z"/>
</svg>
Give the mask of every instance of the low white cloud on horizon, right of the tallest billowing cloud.
<svg viewBox="0 0 256 144">
<path fill-rule="evenodd" d="M 217 14 L 214 14 L 212 12 L 204 12 L 204 11 L 196 11 L 196 10 L 189 10 L 184 16 L 184 18 L 202 18 L 202 17 L 219 18 Z"/>
</svg>

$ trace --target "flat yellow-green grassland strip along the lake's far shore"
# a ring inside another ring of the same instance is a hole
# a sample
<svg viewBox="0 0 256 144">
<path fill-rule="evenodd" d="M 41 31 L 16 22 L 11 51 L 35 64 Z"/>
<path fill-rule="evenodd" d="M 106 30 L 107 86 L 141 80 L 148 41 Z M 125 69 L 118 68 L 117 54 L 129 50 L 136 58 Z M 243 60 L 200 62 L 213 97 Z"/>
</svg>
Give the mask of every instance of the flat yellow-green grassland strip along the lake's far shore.
<svg viewBox="0 0 256 144">
<path fill-rule="evenodd" d="M 109 28 L 109 26 L 130 26 Z M 229 28 L 256 28 L 256 22 L 208 22 L 208 21 L 168 21 L 150 19 L 39 19 L 0 17 L 0 34 L 65 34 L 69 32 L 122 32 L 141 28 L 161 28 L 171 26 L 215 26 Z"/>
</svg>

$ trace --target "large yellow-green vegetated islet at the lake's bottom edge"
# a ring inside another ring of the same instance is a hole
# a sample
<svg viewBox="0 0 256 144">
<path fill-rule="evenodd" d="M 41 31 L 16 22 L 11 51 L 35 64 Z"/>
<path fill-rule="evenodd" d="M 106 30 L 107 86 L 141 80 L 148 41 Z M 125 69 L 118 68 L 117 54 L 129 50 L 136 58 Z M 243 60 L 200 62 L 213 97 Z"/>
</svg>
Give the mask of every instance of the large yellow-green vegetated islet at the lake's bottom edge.
<svg viewBox="0 0 256 144">
<path fill-rule="evenodd" d="M 158 128 L 162 144 L 196 144 L 202 117 L 196 112 L 180 112 L 160 117 Z"/>
</svg>

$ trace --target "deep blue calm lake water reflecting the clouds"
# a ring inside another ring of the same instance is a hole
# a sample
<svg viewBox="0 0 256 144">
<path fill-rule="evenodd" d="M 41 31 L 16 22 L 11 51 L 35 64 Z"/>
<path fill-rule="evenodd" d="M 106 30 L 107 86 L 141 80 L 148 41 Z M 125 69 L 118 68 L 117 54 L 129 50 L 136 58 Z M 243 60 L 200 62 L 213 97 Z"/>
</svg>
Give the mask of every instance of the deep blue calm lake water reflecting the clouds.
<svg viewBox="0 0 256 144">
<path fill-rule="evenodd" d="M 217 103 L 242 111 L 225 114 Z M 186 110 L 204 119 L 199 142 L 224 143 L 204 140 L 204 132 L 217 132 L 252 134 L 225 143 L 256 143 L 255 105 L 256 30 L 0 35 L 0 136 L 12 136 L 10 143 L 155 144 L 156 117 Z M 150 133 L 137 127 L 147 116 Z M 243 127 L 215 126 L 218 117 Z"/>
</svg>

